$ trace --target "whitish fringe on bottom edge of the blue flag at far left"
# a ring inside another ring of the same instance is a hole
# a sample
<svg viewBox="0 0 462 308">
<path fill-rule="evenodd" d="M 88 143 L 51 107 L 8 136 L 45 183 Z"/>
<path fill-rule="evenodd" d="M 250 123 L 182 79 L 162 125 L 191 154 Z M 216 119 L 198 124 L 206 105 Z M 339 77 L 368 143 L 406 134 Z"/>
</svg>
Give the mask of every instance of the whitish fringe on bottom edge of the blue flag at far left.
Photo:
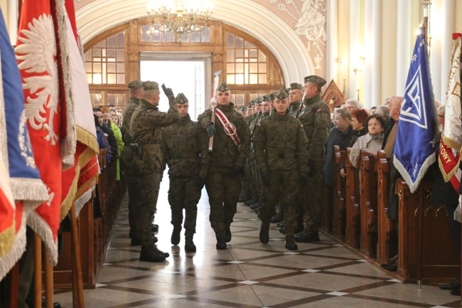
<svg viewBox="0 0 462 308">
<path fill-rule="evenodd" d="M 11 178 L 10 184 L 16 201 L 31 201 L 31 205 L 37 205 L 50 198 L 45 184 L 40 179 Z"/>
</svg>

